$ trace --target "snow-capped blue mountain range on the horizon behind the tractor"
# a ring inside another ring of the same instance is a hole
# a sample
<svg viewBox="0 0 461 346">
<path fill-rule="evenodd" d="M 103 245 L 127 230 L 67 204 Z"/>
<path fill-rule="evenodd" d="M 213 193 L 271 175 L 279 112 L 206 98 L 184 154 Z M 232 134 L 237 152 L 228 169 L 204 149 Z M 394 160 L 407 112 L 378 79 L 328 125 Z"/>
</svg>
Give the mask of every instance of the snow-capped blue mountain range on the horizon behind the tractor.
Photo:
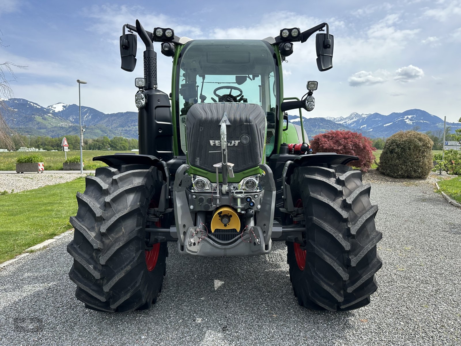
<svg viewBox="0 0 461 346">
<path fill-rule="evenodd" d="M 43 107 L 25 99 L 3 100 L 9 110 L 2 111 L 6 123 L 18 133 L 31 136 L 59 137 L 78 135 L 78 106 L 56 103 Z M 301 124 L 298 115 L 289 115 L 294 124 Z M 82 107 L 82 124 L 86 126 L 85 137 L 96 138 L 123 136 L 137 138 L 137 112 L 102 113 L 95 108 Z M 408 109 L 402 113 L 359 114 L 351 113 L 338 118 L 304 118 L 303 126 L 310 138 L 328 130 L 350 130 L 361 132 L 366 137 L 389 137 L 398 131 L 415 129 L 435 131 L 443 129 L 443 120 L 421 109 Z M 461 128 L 461 123 L 447 123 L 452 131 Z"/>
</svg>

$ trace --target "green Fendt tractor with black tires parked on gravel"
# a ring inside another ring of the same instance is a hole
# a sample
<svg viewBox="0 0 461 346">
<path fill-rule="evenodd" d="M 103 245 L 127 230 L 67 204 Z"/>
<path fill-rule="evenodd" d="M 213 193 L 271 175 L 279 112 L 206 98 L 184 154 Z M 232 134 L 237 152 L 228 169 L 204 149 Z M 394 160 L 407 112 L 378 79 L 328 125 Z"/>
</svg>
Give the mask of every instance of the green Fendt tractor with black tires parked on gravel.
<svg viewBox="0 0 461 346">
<path fill-rule="evenodd" d="M 382 262 L 370 185 L 347 164 L 356 156 L 312 154 L 301 108 L 317 82 L 284 98 L 282 63 L 317 31 L 320 71 L 332 67 L 328 24 L 280 30 L 263 40 L 192 40 L 170 28 L 125 24 L 122 69 L 136 65 L 139 155 L 105 155 L 86 178 L 67 251 L 76 296 L 89 309 L 147 309 L 162 288 L 167 242 L 189 256 L 255 256 L 284 241 L 300 305 L 352 310 L 370 302 Z M 173 60 L 171 94 L 157 88 L 157 56 Z M 290 101 L 287 101 L 290 100 Z M 288 119 L 299 109 L 301 126 Z M 213 259 L 210 259 L 213 261 Z"/>
</svg>

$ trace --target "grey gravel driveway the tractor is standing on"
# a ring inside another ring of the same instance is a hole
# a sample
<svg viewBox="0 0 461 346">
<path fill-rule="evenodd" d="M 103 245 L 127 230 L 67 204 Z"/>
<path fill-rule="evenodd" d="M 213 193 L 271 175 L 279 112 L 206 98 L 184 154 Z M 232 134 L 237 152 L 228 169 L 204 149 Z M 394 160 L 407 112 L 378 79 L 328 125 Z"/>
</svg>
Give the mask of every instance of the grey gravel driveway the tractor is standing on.
<svg viewBox="0 0 461 346">
<path fill-rule="evenodd" d="M 341 313 L 301 308 L 286 248 L 194 258 L 169 245 L 150 310 L 86 310 L 68 278 L 66 234 L 0 270 L 1 345 L 461 345 L 461 209 L 430 185 L 374 184 L 383 232 L 378 292 Z"/>
</svg>

